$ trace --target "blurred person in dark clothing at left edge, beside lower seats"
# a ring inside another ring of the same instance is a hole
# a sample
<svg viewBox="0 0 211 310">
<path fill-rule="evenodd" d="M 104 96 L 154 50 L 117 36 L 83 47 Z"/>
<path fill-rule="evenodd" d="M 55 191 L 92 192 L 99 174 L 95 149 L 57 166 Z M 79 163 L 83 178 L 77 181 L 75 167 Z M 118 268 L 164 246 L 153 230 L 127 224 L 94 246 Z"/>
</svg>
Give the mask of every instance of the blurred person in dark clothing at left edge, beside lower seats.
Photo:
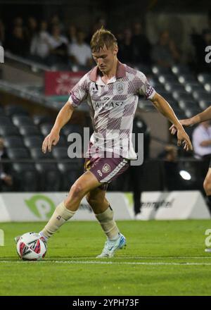
<svg viewBox="0 0 211 310">
<path fill-rule="evenodd" d="M 3 165 L 1 159 L 7 159 L 7 155 L 4 148 L 4 140 L 0 137 L 0 191 L 4 191 L 6 187 L 12 187 L 13 178 L 8 174 L 8 165 Z"/>
</svg>

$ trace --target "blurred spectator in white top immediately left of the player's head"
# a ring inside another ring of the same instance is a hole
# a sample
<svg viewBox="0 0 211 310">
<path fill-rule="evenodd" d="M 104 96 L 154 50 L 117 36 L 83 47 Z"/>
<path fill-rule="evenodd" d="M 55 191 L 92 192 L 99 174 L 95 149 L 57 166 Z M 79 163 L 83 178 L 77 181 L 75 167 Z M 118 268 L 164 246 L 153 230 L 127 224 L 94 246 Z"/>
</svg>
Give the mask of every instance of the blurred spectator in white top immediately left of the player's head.
<svg viewBox="0 0 211 310">
<path fill-rule="evenodd" d="M 90 67 L 93 64 L 90 46 L 84 41 L 85 34 L 82 30 L 77 32 L 77 42 L 69 44 L 68 55 L 70 61 L 80 67 Z"/>
</svg>

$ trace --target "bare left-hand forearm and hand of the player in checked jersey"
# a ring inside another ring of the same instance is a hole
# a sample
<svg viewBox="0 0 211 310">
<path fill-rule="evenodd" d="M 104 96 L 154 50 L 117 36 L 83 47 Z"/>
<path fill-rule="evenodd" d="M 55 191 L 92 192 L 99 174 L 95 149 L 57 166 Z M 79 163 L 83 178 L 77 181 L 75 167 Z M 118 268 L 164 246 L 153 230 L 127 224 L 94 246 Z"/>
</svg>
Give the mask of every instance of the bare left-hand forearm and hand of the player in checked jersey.
<svg viewBox="0 0 211 310">
<path fill-rule="evenodd" d="M 42 144 L 42 151 L 44 153 L 46 153 L 47 150 L 51 151 L 52 145 L 56 145 L 58 143 L 60 130 L 66 123 L 68 123 L 73 111 L 74 108 L 72 104 L 70 104 L 70 101 L 66 102 L 63 108 L 60 109 L 51 132 L 46 136 Z"/>
</svg>

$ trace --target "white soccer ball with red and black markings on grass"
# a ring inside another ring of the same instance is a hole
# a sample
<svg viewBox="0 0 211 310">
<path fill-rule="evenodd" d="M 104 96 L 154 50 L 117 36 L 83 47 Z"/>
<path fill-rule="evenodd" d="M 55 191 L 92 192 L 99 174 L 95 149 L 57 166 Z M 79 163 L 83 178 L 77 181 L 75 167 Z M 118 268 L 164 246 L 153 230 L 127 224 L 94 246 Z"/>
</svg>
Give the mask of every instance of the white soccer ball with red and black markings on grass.
<svg viewBox="0 0 211 310">
<path fill-rule="evenodd" d="M 39 261 L 46 255 L 46 242 L 37 233 L 25 233 L 17 242 L 17 252 L 20 259 Z"/>
</svg>

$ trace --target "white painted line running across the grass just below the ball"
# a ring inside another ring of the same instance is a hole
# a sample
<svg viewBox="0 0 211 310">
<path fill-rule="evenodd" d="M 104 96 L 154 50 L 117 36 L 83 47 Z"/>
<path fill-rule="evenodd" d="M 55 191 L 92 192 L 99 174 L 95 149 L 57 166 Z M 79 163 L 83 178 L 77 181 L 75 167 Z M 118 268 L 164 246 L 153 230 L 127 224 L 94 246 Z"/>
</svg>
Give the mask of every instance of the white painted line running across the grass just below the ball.
<svg viewBox="0 0 211 310">
<path fill-rule="evenodd" d="M 0 261 L 0 263 L 68 263 L 68 264 L 91 264 L 91 265 L 155 265 L 155 266 L 165 266 L 165 265 L 172 265 L 172 266 L 211 266 L 211 263 L 165 263 L 165 262 L 128 262 L 128 261 Z"/>
</svg>

